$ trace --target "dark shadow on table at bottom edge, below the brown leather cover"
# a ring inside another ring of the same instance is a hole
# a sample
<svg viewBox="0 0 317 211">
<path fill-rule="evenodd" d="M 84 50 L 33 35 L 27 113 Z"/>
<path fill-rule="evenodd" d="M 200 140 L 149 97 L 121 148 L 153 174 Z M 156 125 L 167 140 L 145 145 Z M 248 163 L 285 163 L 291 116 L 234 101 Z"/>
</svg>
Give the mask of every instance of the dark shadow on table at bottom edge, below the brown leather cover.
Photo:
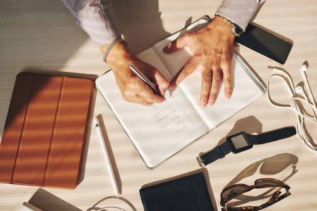
<svg viewBox="0 0 317 211">
<path fill-rule="evenodd" d="M 28 202 L 43 211 L 82 211 L 42 188 L 39 188 Z"/>
</svg>

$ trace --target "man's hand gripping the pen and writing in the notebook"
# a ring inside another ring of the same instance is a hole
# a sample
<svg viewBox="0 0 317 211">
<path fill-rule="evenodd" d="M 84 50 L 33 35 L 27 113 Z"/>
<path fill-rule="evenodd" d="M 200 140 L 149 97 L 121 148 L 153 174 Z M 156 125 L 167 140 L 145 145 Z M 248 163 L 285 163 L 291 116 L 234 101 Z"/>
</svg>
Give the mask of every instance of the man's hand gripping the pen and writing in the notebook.
<svg viewBox="0 0 317 211">
<path fill-rule="evenodd" d="M 99 47 L 103 54 L 109 44 Z M 144 106 L 165 101 L 164 96 L 169 86 L 169 81 L 155 67 L 133 56 L 123 43 L 117 43 L 111 48 L 106 62 L 112 69 L 118 88 L 126 101 Z M 157 85 L 157 90 L 159 90 L 161 96 L 155 95 L 151 88 L 129 68 L 130 63 Z"/>
</svg>

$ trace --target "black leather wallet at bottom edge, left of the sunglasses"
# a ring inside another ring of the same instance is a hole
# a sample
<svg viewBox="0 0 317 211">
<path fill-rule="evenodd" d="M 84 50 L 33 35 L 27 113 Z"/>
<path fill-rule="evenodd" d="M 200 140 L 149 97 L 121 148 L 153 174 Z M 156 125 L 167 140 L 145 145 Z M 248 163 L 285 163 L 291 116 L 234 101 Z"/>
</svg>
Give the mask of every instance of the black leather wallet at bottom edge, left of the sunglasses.
<svg viewBox="0 0 317 211">
<path fill-rule="evenodd" d="M 203 173 L 140 189 L 145 211 L 214 211 Z"/>
</svg>

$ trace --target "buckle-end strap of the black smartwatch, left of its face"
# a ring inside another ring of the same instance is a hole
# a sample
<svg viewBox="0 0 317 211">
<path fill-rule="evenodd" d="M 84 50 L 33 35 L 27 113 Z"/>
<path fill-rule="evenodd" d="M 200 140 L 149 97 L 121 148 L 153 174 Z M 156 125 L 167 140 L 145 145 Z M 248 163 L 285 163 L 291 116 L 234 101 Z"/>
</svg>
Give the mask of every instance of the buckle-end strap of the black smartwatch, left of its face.
<svg viewBox="0 0 317 211">
<path fill-rule="evenodd" d="M 232 151 L 232 146 L 229 141 L 224 142 L 220 146 L 217 146 L 215 149 L 197 157 L 197 161 L 201 167 L 208 165 L 209 163 L 223 158 L 225 155 L 229 154 Z"/>
</svg>

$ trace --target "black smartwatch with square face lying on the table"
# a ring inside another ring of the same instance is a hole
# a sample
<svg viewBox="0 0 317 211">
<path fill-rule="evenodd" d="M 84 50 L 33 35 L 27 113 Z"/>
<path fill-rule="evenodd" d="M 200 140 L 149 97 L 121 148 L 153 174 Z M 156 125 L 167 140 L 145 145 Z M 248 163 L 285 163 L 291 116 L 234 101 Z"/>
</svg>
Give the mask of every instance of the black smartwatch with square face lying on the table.
<svg viewBox="0 0 317 211">
<path fill-rule="evenodd" d="M 295 134 L 296 129 L 294 127 L 282 128 L 260 135 L 251 135 L 246 132 L 240 132 L 232 136 L 228 136 L 223 144 L 217 146 L 210 152 L 198 156 L 196 159 L 199 165 L 204 167 L 215 160 L 223 158 L 230 152 L 236 154 L 251 149 L 253 145 L 285 139 Z"/>
</svg>

